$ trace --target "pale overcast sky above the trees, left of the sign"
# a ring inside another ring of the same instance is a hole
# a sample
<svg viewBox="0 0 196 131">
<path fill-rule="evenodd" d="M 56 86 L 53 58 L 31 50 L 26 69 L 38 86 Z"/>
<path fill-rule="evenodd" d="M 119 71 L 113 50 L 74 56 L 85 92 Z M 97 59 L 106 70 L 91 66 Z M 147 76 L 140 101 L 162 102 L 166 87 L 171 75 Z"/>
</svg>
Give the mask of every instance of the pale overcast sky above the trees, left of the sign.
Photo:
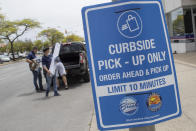
<svg viewBox="0 0 196 131">
<path fill-rule="evenodd" d="M 9 20 L 30 18 L 41 23 L 42 28 L 29 31 L 21 39 L 35 40 L 43 29 L 56 28 L 61 32 L 84 36 L 81 9 L 111 0 L 0 0 L 1 12 Z"/>
</svg>

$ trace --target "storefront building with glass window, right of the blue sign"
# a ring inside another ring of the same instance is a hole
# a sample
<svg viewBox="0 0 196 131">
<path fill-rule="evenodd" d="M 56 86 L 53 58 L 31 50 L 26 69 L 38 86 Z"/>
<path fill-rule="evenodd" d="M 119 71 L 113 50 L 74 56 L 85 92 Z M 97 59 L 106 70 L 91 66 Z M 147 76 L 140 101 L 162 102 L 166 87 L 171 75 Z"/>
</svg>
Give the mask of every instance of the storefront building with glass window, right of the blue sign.
<svg viewBox="0 0 196 131">
<path fill-rule="evenodd" d="M 176 53 L 196 51 L 196 0 L 162 0 Z"/>
</svg>

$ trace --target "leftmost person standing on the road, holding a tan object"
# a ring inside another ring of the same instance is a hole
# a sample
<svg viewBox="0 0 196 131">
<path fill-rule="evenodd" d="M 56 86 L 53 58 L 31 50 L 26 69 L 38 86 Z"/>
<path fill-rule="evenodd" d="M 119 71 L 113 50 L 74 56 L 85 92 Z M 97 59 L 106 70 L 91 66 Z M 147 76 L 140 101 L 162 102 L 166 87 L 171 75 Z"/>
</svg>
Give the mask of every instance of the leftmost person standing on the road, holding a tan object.
<svg viewBox="0 0 196 131">
<path fill-rule="evenodd" d="M 33 74 L 33 84 L 35 86 L 36 92 L 45 91 L 42 85 L 42 72 L 40 67 L 41 59 L 37 57 L 36 53 L 38 51 L 37 47 L 33 47 L 33 50 L 26 57 L 26 62 L 29 63 L 29 69 Z M 39 86 L 37 84 L 39 81 Z"/>
</svg>

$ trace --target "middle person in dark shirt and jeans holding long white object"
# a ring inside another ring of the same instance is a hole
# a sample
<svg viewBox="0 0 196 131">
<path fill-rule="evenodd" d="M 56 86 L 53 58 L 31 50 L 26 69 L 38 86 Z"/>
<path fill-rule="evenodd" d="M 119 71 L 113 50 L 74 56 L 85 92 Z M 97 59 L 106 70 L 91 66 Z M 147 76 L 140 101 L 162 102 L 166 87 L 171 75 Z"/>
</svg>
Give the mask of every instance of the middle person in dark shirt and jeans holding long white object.
<svg viewBox="0 0 196 131">
<path fill-rule="evenodd" d="M 48 97 L 51 83 L 53 83 L 54 96 L 59 96 L 60 94 L 57 91 L 57 84 L 56 84 L 56 79 L 57 79 L 56 73 L 52 74 L 50 72 L 50 65 L 52 62 L 52 55 L 49 54 L 50 49 L 44 48 L 43 52 L 44 52 L 44 56 L 42 57 L 42 66 L 43 66 L 43 71 L 46 76 L 46 82 L 47 82 L 46 97 Z"/>
</svg>

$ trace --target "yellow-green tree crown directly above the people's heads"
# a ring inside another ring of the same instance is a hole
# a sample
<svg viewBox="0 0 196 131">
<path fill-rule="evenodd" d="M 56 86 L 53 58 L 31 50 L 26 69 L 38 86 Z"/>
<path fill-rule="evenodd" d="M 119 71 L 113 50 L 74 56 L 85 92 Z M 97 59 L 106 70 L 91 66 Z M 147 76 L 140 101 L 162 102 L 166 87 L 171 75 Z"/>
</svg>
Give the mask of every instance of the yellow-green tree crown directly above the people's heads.
<svg viewBox="0 0 196 131">
<path fill-rule="evenodd" d="M 38 34 L 38 37 L 42 37 L 49 41 L 51 45 L 54 45 L 57 42 L 62 42 L 62 40 L 64 39 L 64 34 L 55 28 L 49 28 L 41 31 Z"/>
</svg>

